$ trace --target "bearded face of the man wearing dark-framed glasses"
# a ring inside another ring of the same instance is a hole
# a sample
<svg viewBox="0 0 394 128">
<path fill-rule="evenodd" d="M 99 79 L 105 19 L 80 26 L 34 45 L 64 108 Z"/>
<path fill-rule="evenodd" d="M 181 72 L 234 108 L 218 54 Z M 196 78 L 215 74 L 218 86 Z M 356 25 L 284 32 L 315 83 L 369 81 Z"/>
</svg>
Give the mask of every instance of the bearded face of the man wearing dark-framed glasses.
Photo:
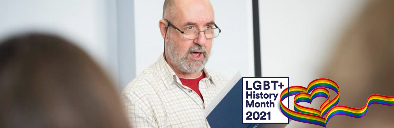
<svg viewBox="0 0 394 128">
<path fill-rule="evenodd" d="M 208 1 L 179 0 L 176 6 L 177 16 L 170 22 L 180 30 L 214 28 L 214 12 Z M 183 73 L 201 71 L 208 61 L 212 39 L 207 39 L 204 32 L 200 32 L 196 39 L 186 39 L 172 27 L 168 32 L 167 58 L 173 68 Z"/>
</svg>

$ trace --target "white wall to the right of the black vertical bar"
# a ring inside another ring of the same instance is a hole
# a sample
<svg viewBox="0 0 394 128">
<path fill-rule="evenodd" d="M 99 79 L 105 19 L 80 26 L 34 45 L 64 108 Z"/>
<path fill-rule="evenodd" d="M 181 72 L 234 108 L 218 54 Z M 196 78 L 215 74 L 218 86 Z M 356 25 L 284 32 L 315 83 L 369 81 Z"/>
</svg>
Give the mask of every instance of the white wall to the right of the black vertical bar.
<svg viewBox="0 0 394 128">
<path fill-rule="evenodd" d="M 365 2 L 259 0 L 262 76 L 289 76 L 290 86 L 304 87 L 321 78 L 342 31 Z M 292 121 L 287 128 L 302 125 Z"/>
</svg>

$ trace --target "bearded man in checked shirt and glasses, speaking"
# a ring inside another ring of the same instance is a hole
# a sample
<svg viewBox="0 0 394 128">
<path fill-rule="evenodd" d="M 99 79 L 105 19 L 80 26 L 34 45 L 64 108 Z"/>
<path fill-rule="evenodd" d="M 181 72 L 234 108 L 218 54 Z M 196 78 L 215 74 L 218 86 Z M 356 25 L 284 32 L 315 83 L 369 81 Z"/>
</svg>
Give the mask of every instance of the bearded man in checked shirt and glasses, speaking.
<svg viewBox="0 0 394 128">
<path fill-rule="evenodd" d="M 203 110 L 228 82 L 204 69 L 219 35 L 208 0 L 165 0 L 164 54 L 123 91 L 132 128 L 209 128 Z"/>
</svg>

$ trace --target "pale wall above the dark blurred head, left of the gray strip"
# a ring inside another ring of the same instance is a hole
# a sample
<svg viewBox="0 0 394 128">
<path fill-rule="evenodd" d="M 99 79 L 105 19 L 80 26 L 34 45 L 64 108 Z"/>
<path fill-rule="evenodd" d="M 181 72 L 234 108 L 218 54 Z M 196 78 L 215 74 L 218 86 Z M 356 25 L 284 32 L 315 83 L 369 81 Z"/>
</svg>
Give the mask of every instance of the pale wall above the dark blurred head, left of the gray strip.
<svg viewBox="0 0 394 128">
<path fill-rule="evenodd" d="M 1 0 L 0 39 L 26 32 L 60 35 L 81 46 L 115 78 L 114 9 L 115 1 L 105 0 Z"/>
</svg>

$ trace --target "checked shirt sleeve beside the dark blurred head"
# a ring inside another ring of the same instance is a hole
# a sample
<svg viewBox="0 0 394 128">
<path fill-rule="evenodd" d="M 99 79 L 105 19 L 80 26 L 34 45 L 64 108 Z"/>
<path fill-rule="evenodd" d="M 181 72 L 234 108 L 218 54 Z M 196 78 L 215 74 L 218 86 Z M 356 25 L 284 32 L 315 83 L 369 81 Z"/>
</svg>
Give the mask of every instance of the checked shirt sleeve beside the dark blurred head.
<svg viewBox="0 0 394 128">
<path fill-rule="evenodd" d="M 135 93 L 122 95 L 123 108 L 131 128 L 158 128 L 153 111 Z"/>
</svg>

